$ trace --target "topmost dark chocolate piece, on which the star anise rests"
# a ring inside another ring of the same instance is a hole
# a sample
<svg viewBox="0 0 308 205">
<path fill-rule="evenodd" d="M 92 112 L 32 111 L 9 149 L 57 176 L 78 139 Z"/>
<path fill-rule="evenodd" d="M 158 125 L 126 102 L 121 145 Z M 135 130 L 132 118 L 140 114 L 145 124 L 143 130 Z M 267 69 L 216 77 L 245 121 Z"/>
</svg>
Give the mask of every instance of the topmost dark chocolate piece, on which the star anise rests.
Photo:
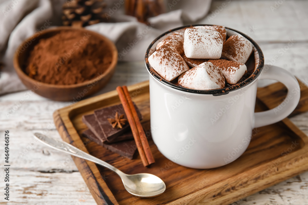
<svg viewBox="0 0 308 205">
<path fill-rule="evenodd" d="M 142 115 L 135 103 L 134 103 L 134 106 L 136 108 L 139 119 L 142 120 Z M 102 108 L 102 109 L 94 111 L 96 120 L 108 142 L 115 141 L 115 138 L 117 136 L 120 136 L 124 134 L 125 132 L 128 132 L 128 130 L 130 129 L 128 122 L 123 125 L 123 128 L 112 128 L 112 125 L 108 122 L 107 119 L 114 118 L 116 112 L 118 112 L 119 116 L 124 114 L 124 118 L 127 119 L 122 104 L 118 104 L 118 105 L 114 105 L 114 106 L 110 106 L 110 107 L 106 107 L 106 108 Z"/>
</svg>

